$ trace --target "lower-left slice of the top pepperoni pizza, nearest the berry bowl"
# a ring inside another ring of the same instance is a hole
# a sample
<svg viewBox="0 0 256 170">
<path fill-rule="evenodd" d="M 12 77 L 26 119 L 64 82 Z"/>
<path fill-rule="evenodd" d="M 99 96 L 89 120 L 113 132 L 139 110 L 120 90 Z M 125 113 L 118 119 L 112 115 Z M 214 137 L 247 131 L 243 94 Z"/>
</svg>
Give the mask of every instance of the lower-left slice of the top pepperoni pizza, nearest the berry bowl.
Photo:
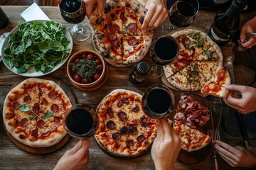
<svg viewBox="0 0 256 170">
<path fill-rule="evenodd" d="M 122 34 L 105 34 L 95 30 L 93 37 L 95 50 L 99 52 L 110 64 L 122 67 Z"/>
</svg>

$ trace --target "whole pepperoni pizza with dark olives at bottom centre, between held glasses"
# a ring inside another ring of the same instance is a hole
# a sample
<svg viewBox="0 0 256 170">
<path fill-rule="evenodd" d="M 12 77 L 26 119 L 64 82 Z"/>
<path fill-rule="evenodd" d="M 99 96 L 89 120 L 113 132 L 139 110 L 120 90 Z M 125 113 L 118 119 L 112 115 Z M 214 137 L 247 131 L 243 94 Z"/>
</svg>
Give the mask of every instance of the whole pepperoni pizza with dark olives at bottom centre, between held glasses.
<svg viewBox="0 0 256 170">
<path fill-rule="evenodd" d="M 97 143 L 117 157 L 136 157 L 148 149 L 156 137 L 156 125 L 142 108 L 142 96 L 117 89 L 102 99 L 96 109 L 99 128 Z"/>
</svg>

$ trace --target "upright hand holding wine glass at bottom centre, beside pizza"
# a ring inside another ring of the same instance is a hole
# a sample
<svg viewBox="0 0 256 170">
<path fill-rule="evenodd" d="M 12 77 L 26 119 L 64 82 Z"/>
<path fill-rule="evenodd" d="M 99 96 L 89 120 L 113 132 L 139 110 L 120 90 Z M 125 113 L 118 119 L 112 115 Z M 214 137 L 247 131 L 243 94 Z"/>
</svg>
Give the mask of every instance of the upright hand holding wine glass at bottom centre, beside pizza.
<svg viewBox="0 0 256 170">
<path fill-rule="evenodd" d="M 151 157 L 156 170 L 174 169 L 174 163 L 181 150 L 181 140 L 174 133 L 165 118 L 156 121 L 157 135 L 151 148 Z"/>
</svg>

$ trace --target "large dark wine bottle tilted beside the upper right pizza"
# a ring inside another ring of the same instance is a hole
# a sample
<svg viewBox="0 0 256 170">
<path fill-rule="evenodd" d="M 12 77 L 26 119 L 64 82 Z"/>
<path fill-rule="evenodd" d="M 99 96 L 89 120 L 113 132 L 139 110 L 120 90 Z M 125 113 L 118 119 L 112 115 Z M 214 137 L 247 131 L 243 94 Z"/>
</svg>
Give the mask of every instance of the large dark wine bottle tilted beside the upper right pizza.
<svg viewBox="0 0 256 170">
<path fill-rule="evenodd" d="M 247 0 L 233 0 L 225 13 L 216 14 L 209 36 L 218 45 L 225 45 L 233 39 L 235 30 L 239 28 L 240 13 L 245 6 Z"/>
</svg>

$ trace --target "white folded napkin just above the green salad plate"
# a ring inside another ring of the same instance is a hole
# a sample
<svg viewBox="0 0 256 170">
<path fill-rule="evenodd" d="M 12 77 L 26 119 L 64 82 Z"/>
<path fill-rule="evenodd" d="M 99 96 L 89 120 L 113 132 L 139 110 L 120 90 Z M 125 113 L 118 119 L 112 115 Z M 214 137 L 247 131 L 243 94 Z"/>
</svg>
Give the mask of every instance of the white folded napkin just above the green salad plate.
<svg viewBox="0 0 256 170">
<path fill-rule="evenodd" d="M 46 16 L 46 13 L 44 13 L 36 3 L 26 8 L 26 10 L 23 11 L 23 13 L 21 13 L 21 17 L 27 22 L 34 21 L 34 20 L 50 21 L 50 18 Z"/>
</svg>

